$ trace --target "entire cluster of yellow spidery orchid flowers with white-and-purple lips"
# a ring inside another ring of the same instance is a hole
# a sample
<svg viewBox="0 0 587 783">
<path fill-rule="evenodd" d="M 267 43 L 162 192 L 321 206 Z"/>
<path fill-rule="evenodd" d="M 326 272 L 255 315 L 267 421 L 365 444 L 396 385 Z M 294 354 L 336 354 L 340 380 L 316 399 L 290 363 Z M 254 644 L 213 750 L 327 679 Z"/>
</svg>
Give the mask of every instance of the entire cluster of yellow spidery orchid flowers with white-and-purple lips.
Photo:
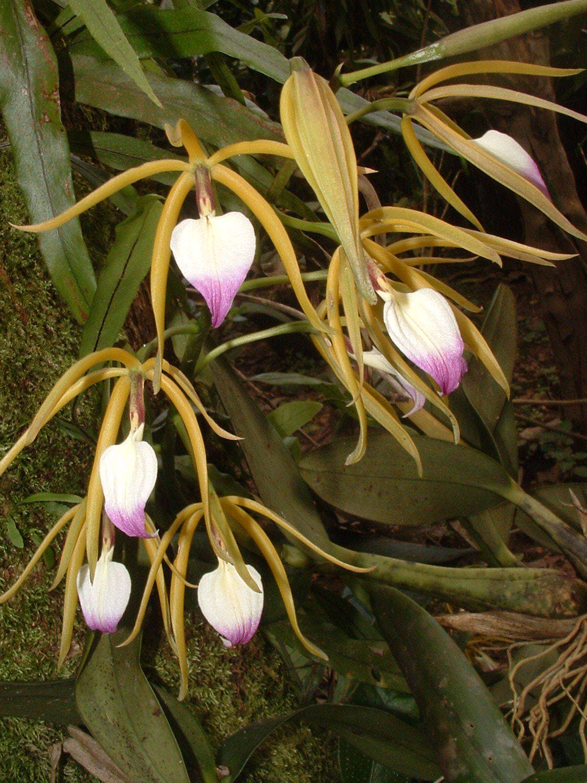
<svg viewBox="0 0 587 783">
<path fill-rule="evenodd" d="M 207 156 L 192 128 L 180 120 L 175 128 L 166 128 L 167 138 L 174 146 L 185 147 L 188 161 L 169 159 L 142 164 L 113 177 L 62 215 L 35 226 L 20 226 L 32 232 L 55 229 L 132 182 L 163 171 L 178 172 L 165 200 L 153 243 L 150 290 L 157 354 L 150 357 L 143 355 L 144 351 L 134 355 L 122 348 L 106 348 L 80 359 L 55 384 L 30 427 L 0 460 L 2 474 L 59 410 L 91 386 L 115 381 L 84 500 L 56 522 L 20 578 L 0 597 L 0 601 L 5 601 L 20 588 L 52 540 L 69 525 L 53 582 L 56 586 L 63 577 L 66 579 L 60 662 L 70 647 L 77 597 L 92 630 L 111 633 L 124 615 L 131 594 L 131 577 L 123 563 L 113 560 L 115 529 L 124 536 L 142 540 L 151 564 L 134 627 L 124 644 L 139 633 L 153 586 L 157 586 L 164 629 L 171 648 L 178 655 L 182 696 L 188 677 L 184 594 L 186 586 L 193 587 L 187 582 L 186 574 L 194 532 L 202 519 L 211 548 L 218 557 L 218 568 L 200 579 L 198 601 L 204 617 L 229 646 L 250 640 L 263 607 L 261 576 L 255 568 L 245 564 L 234 528 L 244 531 L 268 562 L 301 643 L 312 654 L 324 657 L 301 633 L 283 563 L 265 529 L 252 514 L 274 522 L 286 536 L 300 541 L 319 560 L 331 561 L 355 572 L 369 570 L 348 565 L 327 554 L 301 535 L 295 525 L 256 500 L 240 496 L 218 497 L 211 485 L 196 410 L 221 438 L 238 438 L 211 418 L 192 381 L 168 363 L 163 353 L 171 254 L 182 274 L 206 301 L 212 327 L 218 327 L 225 319 L 254 260 L 256 237 L 252 223 L 239 211 L 217 215 L 213 183 L 232 190 L 265 229 L 286 269 L 301 306 L 300 316 L 306 319 L 315 347 L 351 395 L 349 404 L 355 405 L 359 436 L 348 463 L 360 460 L 365 452 L 370 416 L 420 465 L 416 446 L 397 410 L 409 416 L 412 424 L 424 434 L 459 442 L 459 424 L 445 397 L 459 386 L 466 372 L 465 349 L 477 356 L 506 394 L 509 393 L 506 377 L 484 337 L 462 312 L 463 309 L 478 312 L 479 308 L 421 269 L 433 262 L 457 263 L 467 259 L 458 254 L 436 257 L 420 253 L 426 248 L 442 247 L 451 253 L 466 251 L 498 264 L 501 264 L 500 254 L 506 254 L 546 265 L 568 256 L 485 233 L 481 223 L 430 162 L 413 124 L 417 122 L 427 128 L 456 153 L 528 199 L 574 236 L 587 239 L 556 209 L 534 161 L 515 140 L 496 131 L 470 139 L 433 103 L 437 99 L 465 95 L 507 99 L 563 111 L 587 121 L 583 115 L 524 93 L 488 85 L 445 84 L 467 74 L 562 76 L 576 72 L 525 63 L 461 63 L 424 78 L 407 99 L 376 102 L 366 110 L 344 117 L 328 83 L 304 63 L 294 62 L 280 100 L 286 143 L 245 141 Z M 366 111 L 388 107 L 387 104 L 402 110 L 402 134 L 423 174 L 474 228 L 452 226 L 406 207 L 381 206 L 373 193 L 369 198 L 369 211 L 359 214 L 358 193 L 360 186 L 365 186 L 366 173 L 358 169 L 349 124 Z M 304 276 L 283 225 L 290 218 L 287 215 L 280 217 L 246 179 L 224 162 L 243 154 L 269 154 L 294 160 L 315 191 L 329 223 L 296 220 L 295 225 L 326 233 L 337 240 L 326 275 L 325 296 L 317 307 L 308 298 Z M 200 217 L 178 222 L 185 198 L 193 188 Z M 104 366 L 105 363 L 110 366 Z M 394 391 L 393 399 L 387 399 L 368 382 L 366 367 L 387 379 Z M 423 371 L 427 380 L 417 370 Z M 146 382 L 152 384 L 156 394 L 163 391 L 181 417 L 200 488 L 200 500 L 180 511 L 162 535 L 145 512 L 158 470 L 157 454 L 153 446 L 143 440 L 148 433 L 144 405 Z M 425 402 L 429 402 L 450 427 L 425 409 Z M 129 423 L 123 425 L 127 406 Z M 125 437 L 118 443 L 121 430 Z M 170 557 L 167 553 L 176 536 L 175 556 Z M 164 562 L 171 571 L 168 590 Z"/>
</svg>

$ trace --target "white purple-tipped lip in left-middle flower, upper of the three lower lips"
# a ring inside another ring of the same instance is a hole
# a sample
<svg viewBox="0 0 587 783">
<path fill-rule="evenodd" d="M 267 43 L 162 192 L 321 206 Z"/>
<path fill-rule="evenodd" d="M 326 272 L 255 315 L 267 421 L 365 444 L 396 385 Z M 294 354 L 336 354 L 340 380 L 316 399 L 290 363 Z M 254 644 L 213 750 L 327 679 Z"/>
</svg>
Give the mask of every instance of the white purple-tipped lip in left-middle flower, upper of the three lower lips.
<svg viewBox="0 0 587 783">
<path fill-rule="evenodd" d="M 145 505 L 157 481 L 157 455 L 140 440 L 142 427 L 100 457 L 100 481 L 108 518 L 127 536 L 149 538 Z"/>
</svg>

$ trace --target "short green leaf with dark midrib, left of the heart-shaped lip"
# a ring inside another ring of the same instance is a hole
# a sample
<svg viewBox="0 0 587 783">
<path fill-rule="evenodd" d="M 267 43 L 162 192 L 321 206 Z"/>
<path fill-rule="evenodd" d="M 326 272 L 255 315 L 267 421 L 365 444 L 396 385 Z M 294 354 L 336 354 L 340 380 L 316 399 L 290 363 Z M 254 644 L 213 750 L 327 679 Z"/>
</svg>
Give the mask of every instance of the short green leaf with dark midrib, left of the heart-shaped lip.
<svg viewBox="0 0 587 783">
<path fill-rule="evenodd" d="M 133 214 L 117 225 L 116 239 L 99 274 L 81 333 L 80 356 L 108 348 L 117 341 L 139 286 L 149 272 L 162 208 L 157 197 L 143 196 Z"/>
</svg>

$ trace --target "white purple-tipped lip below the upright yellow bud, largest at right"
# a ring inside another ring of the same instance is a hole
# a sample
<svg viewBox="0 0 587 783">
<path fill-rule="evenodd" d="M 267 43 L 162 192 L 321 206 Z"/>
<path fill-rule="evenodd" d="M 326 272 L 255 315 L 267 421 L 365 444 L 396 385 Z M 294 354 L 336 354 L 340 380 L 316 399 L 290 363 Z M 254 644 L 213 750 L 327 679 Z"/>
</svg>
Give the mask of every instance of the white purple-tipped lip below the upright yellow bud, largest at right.
<svg viewBox="0 0 587 783">
<path fill-rule="evenodd" d="M 463 337 L 450 305 L 433 288 L 384 297 L 384 323 L 391 340 L 416 366 L 450 394 L 466 373 Z"/>
</svg>

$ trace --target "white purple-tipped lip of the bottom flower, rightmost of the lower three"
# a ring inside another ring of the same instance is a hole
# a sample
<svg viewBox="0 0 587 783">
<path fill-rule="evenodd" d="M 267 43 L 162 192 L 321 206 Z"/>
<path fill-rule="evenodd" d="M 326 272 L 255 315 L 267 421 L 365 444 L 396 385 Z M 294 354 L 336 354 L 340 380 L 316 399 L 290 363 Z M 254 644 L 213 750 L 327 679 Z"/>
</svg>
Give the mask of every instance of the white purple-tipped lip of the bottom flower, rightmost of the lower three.
<svg viewBox="0 0 587 783">
<path fill-rule="evenodd" d="M 198 586 L 198 604 L 202 614 L 218 631 L 225 647 L 247 644 L 261 621 L 261 575 L 252 565 L 247 565 L 247 568 L 261 592 L 251 590 L 234 565 L 224 560 L 218 560 L 218 568 L 204 574 Z"/>
</svg>

